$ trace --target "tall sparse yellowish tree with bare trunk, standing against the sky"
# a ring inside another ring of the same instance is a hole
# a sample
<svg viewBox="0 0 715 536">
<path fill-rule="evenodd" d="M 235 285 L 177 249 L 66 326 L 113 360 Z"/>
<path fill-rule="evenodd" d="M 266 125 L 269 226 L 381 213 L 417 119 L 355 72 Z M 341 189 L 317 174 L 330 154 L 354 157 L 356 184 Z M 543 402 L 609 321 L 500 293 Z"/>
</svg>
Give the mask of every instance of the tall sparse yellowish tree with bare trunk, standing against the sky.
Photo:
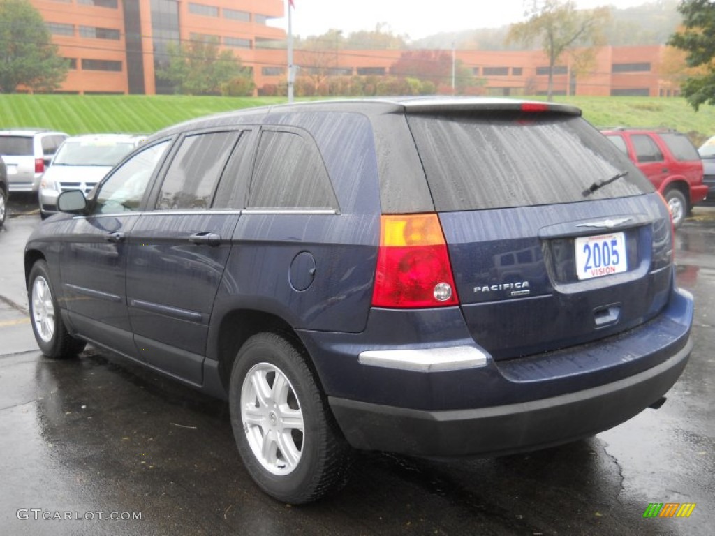
<svg viewBox="0 0 715 536">
<path fill-rule="evenodd" d="M 532 44 L 541 41 L 548 59 L 548 99 L 553 96 L 553 68 L 567 51 L 576 57 L 577 48 L 603 44 L 603 28 L 611 17 L 608 8 L 576 10 L 573 0 L 533 0 L 525 15 L 528 20 L 512 24 L 508 41 Z M 583 62 L 579 62 L 583 63 Z"/>
</svg>

